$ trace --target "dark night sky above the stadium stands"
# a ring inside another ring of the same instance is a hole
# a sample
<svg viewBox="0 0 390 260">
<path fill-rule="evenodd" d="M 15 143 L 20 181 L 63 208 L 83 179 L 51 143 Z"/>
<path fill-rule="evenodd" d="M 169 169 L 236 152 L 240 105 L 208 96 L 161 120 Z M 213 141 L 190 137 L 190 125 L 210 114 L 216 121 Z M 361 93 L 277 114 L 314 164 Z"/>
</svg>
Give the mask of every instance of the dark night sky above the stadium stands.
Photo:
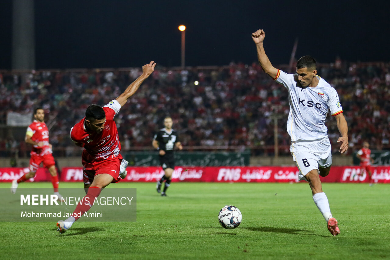
<svg viewBox="0 0 390 260">
<path fill-rule="evenodd" d="M 369 3 L 369 4 L 367 4 Z M 0 69 L 11 68 L 12 1 L 2 0 Z M 250 64 L 251 33 L 264 29 L 273 64 L 296 57 L 318 62 L 390 61 L 388 1 L 35 0 L 35 62 L 45 68 Z"/>
</svg>

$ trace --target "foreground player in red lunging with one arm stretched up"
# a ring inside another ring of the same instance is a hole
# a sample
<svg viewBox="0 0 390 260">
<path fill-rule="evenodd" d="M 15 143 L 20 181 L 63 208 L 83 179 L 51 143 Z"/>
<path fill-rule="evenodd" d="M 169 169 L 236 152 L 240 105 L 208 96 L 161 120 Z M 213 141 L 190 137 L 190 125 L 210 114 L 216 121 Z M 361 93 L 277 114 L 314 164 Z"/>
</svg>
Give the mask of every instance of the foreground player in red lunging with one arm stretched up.
<svg viewBox="0 0 390 260">
<path fill-rule="evenodd" d="M 84 147 L 82 163 L 84 189 L 87 195 L 77 204 L 72 217 L 57 222 L 57 231 L 60 234 L 68 230 L 92 207 L 89 201 L 94 201 L 104 187 L 110 183 L 119 182 L 119 173 L 124 170 L 121 169 L 121 162 L 124 160 L 120 153 L 121 143 L 113 118 L 142 82 L 152 74 L 154 66 L 156 66 L 154 61 L 142 66 L 142 75 L 131 83 L 119 97 L 104 107 L 90 105 L 85 111 L 85 118 L 71 129 L 70 136 L 73 142 L 77 146 Z"/>
</svg>

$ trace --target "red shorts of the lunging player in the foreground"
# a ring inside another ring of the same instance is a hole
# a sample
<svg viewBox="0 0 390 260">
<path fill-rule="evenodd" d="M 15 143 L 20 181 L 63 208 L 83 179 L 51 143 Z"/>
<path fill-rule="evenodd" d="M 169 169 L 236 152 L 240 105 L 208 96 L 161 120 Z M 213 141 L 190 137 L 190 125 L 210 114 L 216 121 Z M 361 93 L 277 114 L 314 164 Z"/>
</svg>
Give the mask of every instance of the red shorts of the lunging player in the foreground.
<svg viewBox="0 0 390 260">
<path fill-rule="evenodd" d="M 83 163 L 84 184 L 91 184 L 95 175 L 102 173 L 109 174 L 114 178 L 111 183 L 119 182 L 119 169 L 121 167 L 122 158 L 115 157 L 93 163 L 86 162 L 84 158 L 82 158 L 81 161 Z"/>
</svg>

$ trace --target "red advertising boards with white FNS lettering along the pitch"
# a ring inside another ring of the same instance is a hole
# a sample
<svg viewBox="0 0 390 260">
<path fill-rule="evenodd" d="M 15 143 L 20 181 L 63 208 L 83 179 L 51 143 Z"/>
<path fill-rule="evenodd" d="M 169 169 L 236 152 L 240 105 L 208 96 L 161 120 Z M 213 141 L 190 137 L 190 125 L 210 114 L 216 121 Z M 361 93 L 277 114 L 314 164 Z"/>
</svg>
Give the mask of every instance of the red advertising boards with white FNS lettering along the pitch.
<svg viewBox="0 0 390 260">
<path fill-rule="evenodd" d="M 128 167 L 122 182 L 156 182 L 163 175 L 161 167 Z M 11 182 L 28 173 L 28 168 L 0 168 L 0 182 Z M 372 167 L 372 178 L 378 183 L 390 183 L 390 166 Z M 51 180 L 49 172 L 39 168 L 35 182 Z M 174 182 L 298 182 L 296 167 L 176 167 Z M 82 182 L 82 167 L 63 167 L 61 182 Z M 360 173 L 358 166 L 333 166 L 330 174 L 321 177 L 322 182 L 360 183 L 369 182 L 368 174 Z"/>
</svg>

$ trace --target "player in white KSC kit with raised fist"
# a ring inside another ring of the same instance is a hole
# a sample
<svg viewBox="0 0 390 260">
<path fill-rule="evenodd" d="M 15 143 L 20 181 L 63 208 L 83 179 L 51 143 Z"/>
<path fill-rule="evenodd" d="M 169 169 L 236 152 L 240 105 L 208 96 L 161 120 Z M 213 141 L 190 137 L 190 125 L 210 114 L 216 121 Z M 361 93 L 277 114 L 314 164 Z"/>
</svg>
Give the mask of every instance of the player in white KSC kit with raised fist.
<svg viewBox="0 0 390 260">
<path fill-rule="evenodd" d="M 264 30 L 252 33 L 256 44 L 257 58 L 261 68 L 284 85 L 289 91 L 290 113 L 287 131 L 291 137 L 290 151 L 299 169 L 299 179 L 307 180 L 312 189 L 313 200 L 334 236 L 340 233 L 337 220 L 332 217 L 328 198 L 322 191 L 318 175 L 327 176 L 332 164 L 332 153 L 325 118 L 328 111 L 335 116 L 341 137 L 340 153 L 348 149 L 348 126 L 344 118 L 336 90 L 317 76 L 316 60 L 301 57 L 296 65 L 296 74 L 287 74 L 274 68 L 264 52 Z"/>
</svg>

